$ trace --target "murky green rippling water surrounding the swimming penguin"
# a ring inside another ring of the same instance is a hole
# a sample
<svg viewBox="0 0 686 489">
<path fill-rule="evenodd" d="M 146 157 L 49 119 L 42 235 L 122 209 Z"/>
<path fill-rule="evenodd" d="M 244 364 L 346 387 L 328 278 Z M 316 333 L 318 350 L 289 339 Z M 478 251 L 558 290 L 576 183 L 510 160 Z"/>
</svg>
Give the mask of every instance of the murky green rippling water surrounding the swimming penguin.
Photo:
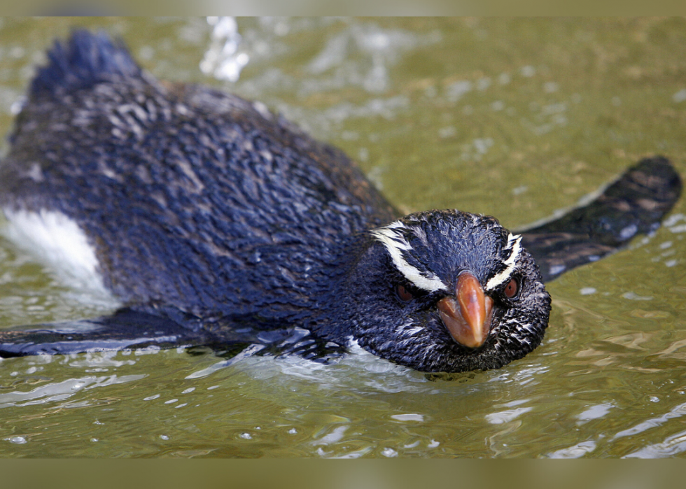
<svg viewBox="0 0 686 489">
<path fill-rule="evenodd" d="M 155 76 L 264 101 L 344 148 L 407 211 L 518 227 L 645 155 L 686 175 L 683 19 L 239 19 L 224 57 L 233 34 L 204 18 L 3 20 L 0 133 L 52 38 L 77 24 L 122 36 Z M 215 76 L 246 59 L 237 82 Z M 0 456 L 680 455 L 685 214 L 680 202 L 654 236 L 549 284 L 544 343 L 497 371 L 448 381 L 363 353 L 330 366 L 251 358 L 200 378 L 188 376 L 221 359 L 2 360 Z M 0 327 L 110 308 L 0 240 Z"/>
</svg>

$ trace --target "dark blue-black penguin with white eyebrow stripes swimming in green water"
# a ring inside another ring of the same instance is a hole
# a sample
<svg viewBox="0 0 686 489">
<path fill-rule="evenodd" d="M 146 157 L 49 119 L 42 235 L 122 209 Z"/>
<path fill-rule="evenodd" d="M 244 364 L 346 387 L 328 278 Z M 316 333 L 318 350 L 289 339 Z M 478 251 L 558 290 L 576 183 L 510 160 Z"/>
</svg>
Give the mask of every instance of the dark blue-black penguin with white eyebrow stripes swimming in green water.
<svg viewBox="0 0 686 489">
<path fill-rule="evenodd" d="M 106 34 L 74 31 L 48 59 L 0 206 L 69 236 L 73 267 L 123 309 L 2 332 L 4 356 L 307 336 L 419 371 L 498 368 L 540 344 L 544 281 L 656 229 L 680 194 L 653 157 L 521 234 L 456 210 L 402 216 L 340 150 L 263 104 L 156 80 Z"/>
</svg>

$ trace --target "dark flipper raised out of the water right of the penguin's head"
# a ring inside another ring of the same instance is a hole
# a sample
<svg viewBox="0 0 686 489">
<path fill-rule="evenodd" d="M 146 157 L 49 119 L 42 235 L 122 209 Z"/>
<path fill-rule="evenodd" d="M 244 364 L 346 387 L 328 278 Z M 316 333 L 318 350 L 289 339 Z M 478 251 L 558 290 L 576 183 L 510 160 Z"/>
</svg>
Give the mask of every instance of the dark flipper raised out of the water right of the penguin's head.
<svg viewBox="0 0 686 489">
<path fill-rule="evenodd" d="M 664 157 L 640 160 L 588 204 L 520 231 L 544 282 L 654 232 L 678 201 L 679 174 Z"/>
</svg>

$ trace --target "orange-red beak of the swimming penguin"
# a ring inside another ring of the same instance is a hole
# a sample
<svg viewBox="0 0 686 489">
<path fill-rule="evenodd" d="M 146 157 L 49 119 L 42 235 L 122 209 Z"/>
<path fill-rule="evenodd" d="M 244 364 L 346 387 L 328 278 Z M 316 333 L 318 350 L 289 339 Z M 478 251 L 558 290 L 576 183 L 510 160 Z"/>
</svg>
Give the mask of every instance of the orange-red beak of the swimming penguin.
<svg viewBox="0 0 686 489">
<path fill-rule="evenodd" d="M 438 302 L 441 320 L 450 336 L 462 346 L 479 348 L 491 330 L 493 299 L 484 295 L 478 279 L 464 272 L 457 280 L 455 297 Z"/>
</svg>

